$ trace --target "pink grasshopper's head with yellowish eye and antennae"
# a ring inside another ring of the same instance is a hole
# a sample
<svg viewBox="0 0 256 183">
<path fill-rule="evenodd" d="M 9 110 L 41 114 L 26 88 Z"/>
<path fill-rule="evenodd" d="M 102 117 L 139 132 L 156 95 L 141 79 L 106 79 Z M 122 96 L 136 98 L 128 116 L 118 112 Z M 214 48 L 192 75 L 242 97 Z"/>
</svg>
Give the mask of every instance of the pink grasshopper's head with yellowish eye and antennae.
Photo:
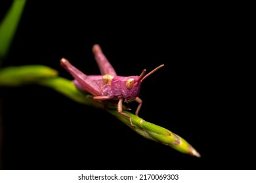
<svg viewBox="0 0 256 183">
<path fill-rule="evenodd" d="M 140 92 L 140 86 L 142 81 L 147 78 L 148 76 L 152 75 L 152 73 L 156 72 L 158 69 L 163 67 L 163 65 L 160 65 L 156 67 L 156 69 L 152 70 L 150 73 L 148 73 L 146 76 L 146 69 L 142 71 L 140 76 L 129 76 L 125 77 L 123 80 L 123 98 L 125 99 L 125 102 L 129 103 L 131 101 L 134 101 L 136 97 L 139 96 Z"/>
</svg>

